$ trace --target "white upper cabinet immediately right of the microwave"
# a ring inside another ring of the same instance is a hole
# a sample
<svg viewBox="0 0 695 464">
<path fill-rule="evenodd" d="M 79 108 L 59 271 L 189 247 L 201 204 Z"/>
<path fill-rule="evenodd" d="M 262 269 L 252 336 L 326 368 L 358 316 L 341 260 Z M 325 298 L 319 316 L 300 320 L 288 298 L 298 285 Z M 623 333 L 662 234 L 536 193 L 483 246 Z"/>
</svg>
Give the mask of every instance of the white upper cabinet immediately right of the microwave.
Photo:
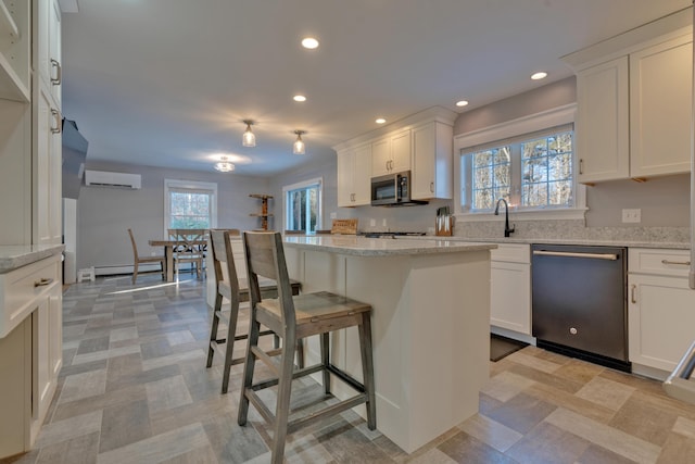
<svg viewBox="0 0 695 464">
<path fill-rule="evenodd" d="M 451 199 L 454 128 L 433 121 L 413 129 L 413 199 Z"/>
</svg>

